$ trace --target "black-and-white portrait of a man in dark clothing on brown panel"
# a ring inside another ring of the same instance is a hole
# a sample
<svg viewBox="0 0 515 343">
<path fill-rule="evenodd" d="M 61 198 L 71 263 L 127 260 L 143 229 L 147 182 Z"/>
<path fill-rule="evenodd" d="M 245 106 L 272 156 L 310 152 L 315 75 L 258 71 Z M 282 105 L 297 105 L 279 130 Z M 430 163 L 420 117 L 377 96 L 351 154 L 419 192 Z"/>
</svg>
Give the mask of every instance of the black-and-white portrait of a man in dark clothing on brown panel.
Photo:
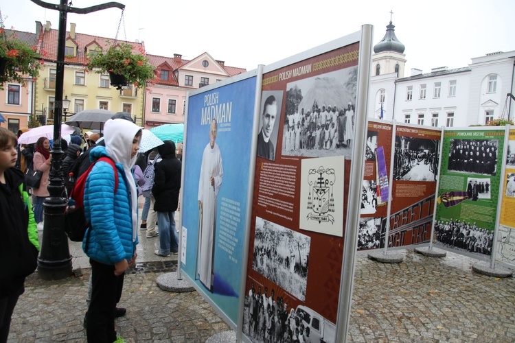
<svg viewBox="0 0 515 343">
<path fill-rule="evenodd" d="M 263 91 L 261 95 L 257 155 L 271 161 L 275 161 L 283 94 L 283 91 Z"/>
</svg>

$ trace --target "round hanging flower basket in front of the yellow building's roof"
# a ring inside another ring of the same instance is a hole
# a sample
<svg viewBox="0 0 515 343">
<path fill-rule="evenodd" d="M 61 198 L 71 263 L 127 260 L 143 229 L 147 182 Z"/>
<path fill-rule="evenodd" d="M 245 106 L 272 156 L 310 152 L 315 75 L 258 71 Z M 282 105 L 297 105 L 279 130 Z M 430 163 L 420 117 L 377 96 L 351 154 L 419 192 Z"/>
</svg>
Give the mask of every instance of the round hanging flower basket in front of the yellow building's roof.
<svg viewBox="0 0 515 343">
<path fill-rule="evenodd" d="M 133 45 L 126 43 L 113 45 L 106 51 L 90 55 L 87 67 L 89 70 L 98 69 L 96 73 L 109 73 L 111 85 L 117 89 L 128 84 L 144 86 L 146 82 L 155 79 L 154 67 L 143 49 L 139 50 L 140 54 L 135 54 L 134 49 Z M 125 80 L 113 80 L 113 75 L 123 76 Z"/>
</svg>

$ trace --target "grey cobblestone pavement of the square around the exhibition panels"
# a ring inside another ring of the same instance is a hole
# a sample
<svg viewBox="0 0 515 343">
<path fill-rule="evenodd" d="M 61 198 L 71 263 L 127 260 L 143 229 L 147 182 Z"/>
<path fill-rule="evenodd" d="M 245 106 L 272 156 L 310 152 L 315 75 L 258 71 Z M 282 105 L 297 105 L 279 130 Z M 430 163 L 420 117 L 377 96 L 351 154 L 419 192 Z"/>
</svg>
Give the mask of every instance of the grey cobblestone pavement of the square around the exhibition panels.
<svg viewBox="0 0 515 343">
<path fill-rule="evenodd" d="M 515 280 L 472 272 L 476 260 L 406 250 L 400 264 L 356 258 L 349 342 L 515 342 Z M 138 263 L 125 278 L 116 321 L 128 342 L 205 342 L 229 330 L 197 292 L 172 294 L 157 276 L 176 261 Z M 27 278 L 8 342 L 84 342 L 89 269 L 60 281 Z"/>
</svg>

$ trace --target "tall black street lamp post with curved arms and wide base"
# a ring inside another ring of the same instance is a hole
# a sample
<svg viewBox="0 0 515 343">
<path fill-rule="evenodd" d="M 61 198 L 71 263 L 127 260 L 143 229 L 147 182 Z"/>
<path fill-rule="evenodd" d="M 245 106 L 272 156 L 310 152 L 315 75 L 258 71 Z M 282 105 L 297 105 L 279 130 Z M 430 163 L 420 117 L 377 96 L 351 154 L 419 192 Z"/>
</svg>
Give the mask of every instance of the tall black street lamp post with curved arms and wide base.
<svg viewBox="0 0 515 343">
<path fill-rule="evenodd" d="M 117 2 L 102 3 L 88 8 L 73 8 L 71 1 L 60 0 L 60 4 L 46 3 L 41 0 L 31 0 L 36 5 L 50 10 L 59 11 L 59 30 L 57 40 L 57 69 L 56 69 L 56 97 L 54 106 L 54 146 L 52 147 L 52 165 L 49 173 L 49 197 L 43 203 L 45 221 L 43 224 L 43 240 L 41 252 L 38 257 L 38 276 L 44 280 L 64 279 L 71 275 L 71 256 L 68 238 L 65 234 L 65 209 L 67 198 L 65 196 L 64 177 L 62 175 L 61 150 L 61 115 L 64 108 L 62 93 L 65 76 L 65 42 L 67 14 L 88 14 L 106 8 L 119 8 L 124 10 L 125 5 Z M 67 105 L 69 106 L 69 100 Z"/>
</svg>

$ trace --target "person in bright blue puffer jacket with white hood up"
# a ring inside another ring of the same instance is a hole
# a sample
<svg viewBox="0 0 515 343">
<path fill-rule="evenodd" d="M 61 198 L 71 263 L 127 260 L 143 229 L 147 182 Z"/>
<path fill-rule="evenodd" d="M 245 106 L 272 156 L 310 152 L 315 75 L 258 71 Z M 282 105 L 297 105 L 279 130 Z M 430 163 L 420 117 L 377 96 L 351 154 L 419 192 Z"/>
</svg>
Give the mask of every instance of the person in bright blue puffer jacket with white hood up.
<svg viewBox="0 0 515 343">
<path fill-rule="evenodd" d="M 95 163 L 84 187 L 84 214 L 91 224 L 82 242 L 90 258 L 93 290 L 87 312 L 88 342 L 115 342 L 115 309 L 122 296 L 124 272 L 135 264 L 137 240 L 137 186 L 132 171 L 141 140 L 141 129 L 124 119 L 109 119 L 104 124 L 105 147 L 94 147 Z M 90 232 L 91 231 L 91 232 Z"/>
</svg>

